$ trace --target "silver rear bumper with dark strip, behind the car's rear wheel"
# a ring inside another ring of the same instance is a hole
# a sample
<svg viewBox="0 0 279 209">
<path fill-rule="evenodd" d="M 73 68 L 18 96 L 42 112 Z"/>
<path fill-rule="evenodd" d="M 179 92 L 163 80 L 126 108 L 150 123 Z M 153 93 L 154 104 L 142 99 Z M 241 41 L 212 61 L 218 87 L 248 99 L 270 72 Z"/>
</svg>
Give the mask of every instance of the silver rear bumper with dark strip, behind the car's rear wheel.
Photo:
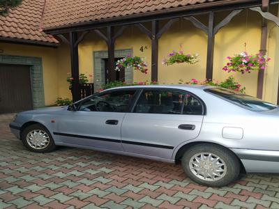
<svg viewBox="0 0 279 209">
<path fill-rule="evenodd" d="M 247 173 L 279 173 L 279 151 L 232 148 Z"/>
</svg>

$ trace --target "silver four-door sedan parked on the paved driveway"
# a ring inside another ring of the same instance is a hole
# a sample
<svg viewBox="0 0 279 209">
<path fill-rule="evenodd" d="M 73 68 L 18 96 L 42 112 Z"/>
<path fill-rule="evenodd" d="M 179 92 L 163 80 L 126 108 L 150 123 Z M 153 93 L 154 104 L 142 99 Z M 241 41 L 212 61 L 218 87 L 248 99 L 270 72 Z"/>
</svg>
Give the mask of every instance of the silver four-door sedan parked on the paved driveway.
<svg viewBox="0 0 279 209">
<path fill-rule="evenodd" d="M 278 107 L 213 86 L 126 86 L 68 107 L 24 111 L 10 129 L 38 153 L 89 148 L 181 162 L 211 187 L 243 172 L 279 172 Z"/>
</svg>

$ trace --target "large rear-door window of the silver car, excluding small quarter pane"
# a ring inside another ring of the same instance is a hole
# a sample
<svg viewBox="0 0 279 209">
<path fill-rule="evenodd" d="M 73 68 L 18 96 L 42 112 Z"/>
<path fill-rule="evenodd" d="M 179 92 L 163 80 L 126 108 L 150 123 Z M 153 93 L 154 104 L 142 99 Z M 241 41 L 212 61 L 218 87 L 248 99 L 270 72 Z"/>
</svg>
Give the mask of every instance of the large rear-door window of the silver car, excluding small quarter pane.
<svg viewBox="0 0 279 209">
<path fill-rule="evenodd" d="M 135 105 L 135 113 L 148 114 L 181 114 L 183 91 L 144 90 Z"/>
</svg>

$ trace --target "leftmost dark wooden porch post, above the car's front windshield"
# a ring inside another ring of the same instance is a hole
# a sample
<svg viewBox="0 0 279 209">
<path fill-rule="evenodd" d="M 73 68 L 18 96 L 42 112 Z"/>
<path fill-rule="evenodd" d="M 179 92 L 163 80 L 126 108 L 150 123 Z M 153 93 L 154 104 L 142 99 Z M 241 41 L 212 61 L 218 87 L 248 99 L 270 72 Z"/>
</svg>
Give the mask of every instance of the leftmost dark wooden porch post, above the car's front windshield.
<svg viewBox="0 0 279 209">
<path fill-rule="evenodd" d="M 70 32 L 70 66 L 73 77 L 72 95 L 73 102 L 81 99 L 80 95 L 80 72 L 78 63 L 77 33 Z"/>
</svg>

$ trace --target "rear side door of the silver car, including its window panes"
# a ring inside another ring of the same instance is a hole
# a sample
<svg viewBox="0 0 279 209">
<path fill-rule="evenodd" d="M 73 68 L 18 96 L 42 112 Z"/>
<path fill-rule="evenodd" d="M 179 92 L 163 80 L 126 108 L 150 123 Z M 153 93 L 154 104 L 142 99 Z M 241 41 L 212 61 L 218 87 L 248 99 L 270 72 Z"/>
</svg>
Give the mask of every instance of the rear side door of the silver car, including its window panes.
<svg viewBox="0 0 279 209">
<path fill-rule="evenodd" d="M 128 153 L 171 159 L 176 146 L 199 135 L 203 111 L 195 95 L 146 88 L 133 113 L 123 120 L 123 148 Z"/>
</svg>

